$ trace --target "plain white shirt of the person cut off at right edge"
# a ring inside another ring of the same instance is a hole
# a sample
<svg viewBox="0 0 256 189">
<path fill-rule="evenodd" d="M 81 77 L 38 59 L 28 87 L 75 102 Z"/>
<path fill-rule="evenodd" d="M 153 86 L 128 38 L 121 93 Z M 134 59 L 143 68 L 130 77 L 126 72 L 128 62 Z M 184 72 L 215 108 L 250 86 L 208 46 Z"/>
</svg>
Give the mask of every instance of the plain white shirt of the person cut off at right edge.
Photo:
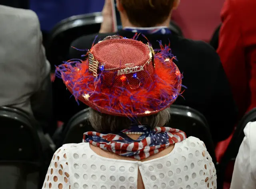
<svg viewBox="0 0 256 189">
<path fill-rule="evenodd" d="M 256 122 L 249 122 L 244 128 L 244 134 L 230 189 L 256 189 Z"/>
</svg>

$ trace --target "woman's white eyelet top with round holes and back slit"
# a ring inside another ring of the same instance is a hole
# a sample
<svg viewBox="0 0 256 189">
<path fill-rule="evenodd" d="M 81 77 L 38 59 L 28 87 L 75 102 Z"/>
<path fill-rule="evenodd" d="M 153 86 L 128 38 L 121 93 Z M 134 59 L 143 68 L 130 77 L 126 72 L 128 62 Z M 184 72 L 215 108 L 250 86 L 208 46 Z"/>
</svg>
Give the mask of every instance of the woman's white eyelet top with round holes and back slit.
<svg viewBox="0 0 256 189">
<path fill-rule="evenodd" d="M 89 143 L 65 144 L 49 166 L 42 189 L 216 189 L 216 169 L 204 143 L 189 137 L 170 154 L 149 161 L 98 156 Z"/>
</svg>

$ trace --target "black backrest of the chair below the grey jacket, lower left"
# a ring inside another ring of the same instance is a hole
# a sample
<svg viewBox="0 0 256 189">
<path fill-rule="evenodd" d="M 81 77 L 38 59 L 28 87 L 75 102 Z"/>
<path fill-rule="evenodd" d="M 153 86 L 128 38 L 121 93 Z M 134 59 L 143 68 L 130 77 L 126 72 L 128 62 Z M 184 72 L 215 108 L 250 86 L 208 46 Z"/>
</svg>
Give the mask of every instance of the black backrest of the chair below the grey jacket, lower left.
<svg viewBox="0 0 256 189">
<path fill-rule="evenodd" d="M 0 161 L 38 163 L 40 140 L 29 116 L 22 110 L 0 107 L 0 138 L 4 141 Z"/>
</svg>

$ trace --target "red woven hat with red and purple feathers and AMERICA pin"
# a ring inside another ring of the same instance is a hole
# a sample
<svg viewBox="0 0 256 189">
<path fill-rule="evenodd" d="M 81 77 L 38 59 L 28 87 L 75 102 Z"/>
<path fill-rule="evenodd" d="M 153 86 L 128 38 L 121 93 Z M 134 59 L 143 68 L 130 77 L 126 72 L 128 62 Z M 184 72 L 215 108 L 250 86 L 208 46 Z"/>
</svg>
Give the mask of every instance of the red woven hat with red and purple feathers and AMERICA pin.
<svg viewBox="0 0 256 189">
<path fill-rule="evenodd" d="M 56 68 L 76 100 L 115 116 L 146 116 L 169 107 L 180 95 L 182 75 L 170 47 L 109 36 L 88 51 L 86 61 Z"/>
</svg>

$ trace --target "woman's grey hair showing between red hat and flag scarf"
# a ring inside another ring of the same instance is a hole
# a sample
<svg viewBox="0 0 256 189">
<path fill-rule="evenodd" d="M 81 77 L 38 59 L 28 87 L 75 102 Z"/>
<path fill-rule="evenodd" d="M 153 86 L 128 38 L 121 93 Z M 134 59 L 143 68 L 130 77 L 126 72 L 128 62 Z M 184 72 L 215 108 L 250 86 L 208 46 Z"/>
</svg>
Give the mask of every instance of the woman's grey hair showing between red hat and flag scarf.
<svg viewBox="0 0 256 189">
<path fill-rule="evenodd" d="M 89 114 L 89 121 L 97 132 L 120 131 L 128 129 L 131 124 L 148 125 L 153 129 L 166 125 L 170 120 L 170 108 L 166 108 L 157 114 L 137 117 L 135 119 L 103 114 L 92 108 L 90 108 Z"/>
</svg>

